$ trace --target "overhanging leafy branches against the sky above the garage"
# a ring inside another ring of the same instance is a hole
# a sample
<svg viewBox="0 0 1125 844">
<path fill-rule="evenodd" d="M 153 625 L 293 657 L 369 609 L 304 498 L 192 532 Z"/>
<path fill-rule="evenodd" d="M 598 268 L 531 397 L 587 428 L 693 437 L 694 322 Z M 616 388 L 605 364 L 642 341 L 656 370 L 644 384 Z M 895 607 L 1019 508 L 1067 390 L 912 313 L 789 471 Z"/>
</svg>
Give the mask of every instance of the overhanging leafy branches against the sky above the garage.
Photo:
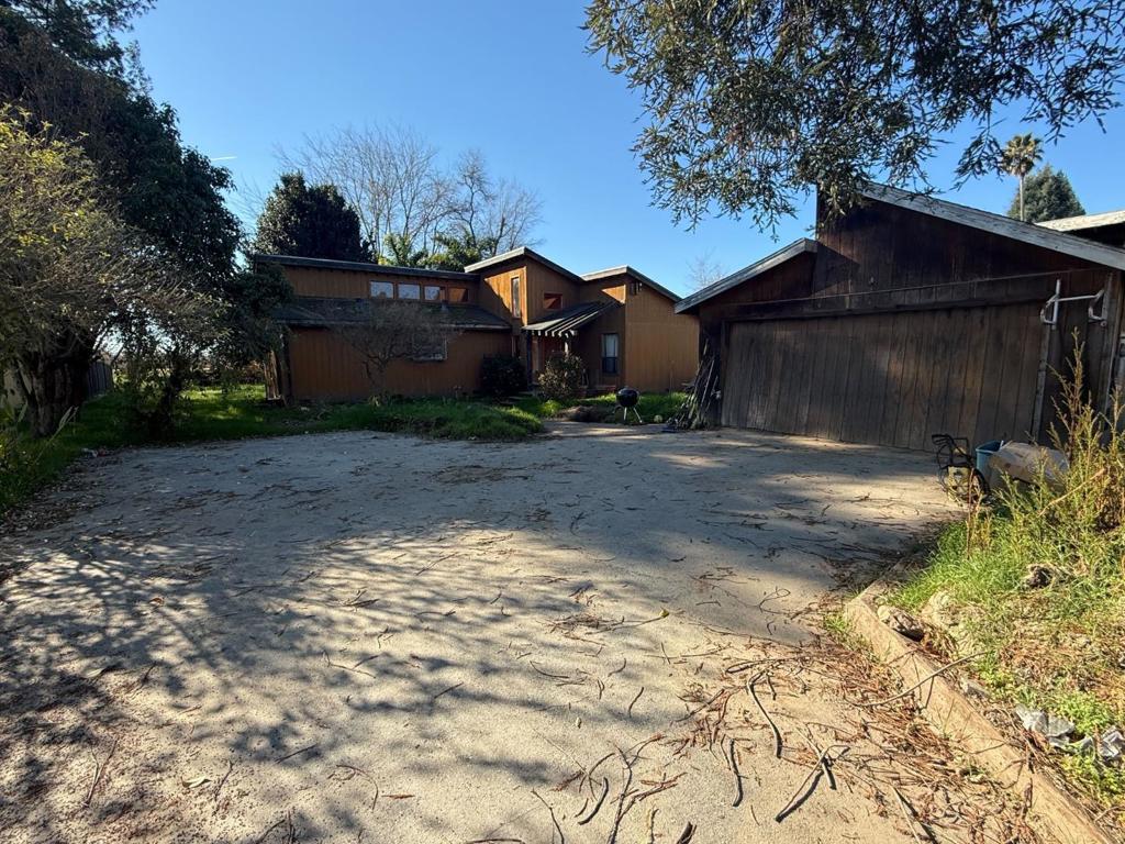
<svg viewBox="0 0 1125 844">
<path fill-rule="evenodd" d="M 656 204 L 690 225 L 774 228 L 810 187 L 831 213 L 872 179 L 925 187 L 965 125 L 958 178 L 991 172 L 998 109 L 1054 141 L 1115 107 L 1125 72 L 1125 0 L 591 0 L 586 28 L 640 93 Z"/>
</svg>

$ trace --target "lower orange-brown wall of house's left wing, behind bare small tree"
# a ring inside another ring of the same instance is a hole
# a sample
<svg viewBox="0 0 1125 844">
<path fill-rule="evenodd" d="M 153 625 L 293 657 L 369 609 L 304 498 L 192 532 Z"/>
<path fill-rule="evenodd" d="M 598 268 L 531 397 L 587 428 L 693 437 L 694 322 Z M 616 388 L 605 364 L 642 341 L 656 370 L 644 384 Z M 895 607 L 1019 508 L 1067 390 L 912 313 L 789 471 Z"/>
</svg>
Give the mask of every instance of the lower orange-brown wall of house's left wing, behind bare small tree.
<svg viewBox="0 0 1125 844">
<path fill-rule="evenodd" d="M 443 361 L 392 361 L 380 390 L 405 396 L 462 395 L 480 388 L 480 362 L 506 353 L 510 336 L 502 331 L 467 331 L 449 342 Z M 292 399 L 348 401 L 375 392 L 363 361 L 338 333 L 328 329 L 290 330 L 287 377 Z"/>
</svg>

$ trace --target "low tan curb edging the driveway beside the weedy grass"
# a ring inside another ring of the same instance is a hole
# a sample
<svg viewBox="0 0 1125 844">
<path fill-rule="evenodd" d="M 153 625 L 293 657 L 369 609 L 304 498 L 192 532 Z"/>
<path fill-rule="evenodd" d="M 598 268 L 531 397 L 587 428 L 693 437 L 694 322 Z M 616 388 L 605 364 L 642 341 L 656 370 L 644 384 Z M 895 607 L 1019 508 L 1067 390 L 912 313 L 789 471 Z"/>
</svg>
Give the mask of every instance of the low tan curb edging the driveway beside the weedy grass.
<svg viewBox="0 0 1125 844">
<path fill-rule="evenodd" d="M 904 686 L 914 685 L 942 667 L 914 643 L 894 632 L 875 614 L 875 596 L 885 586 L 875 581 L 848 601 L 844 613 L 853 630 L 875 655 L 894 670 Z M 1030 769 L 1027 754 L 1011 744 L 969 702 L 946 676 L 927 680 L 915 700 L 930 728 L 960 747 L 993 780 L 1028 801 L 1027 823 L 1062 844 L 1115 844 L 1090 815 L 1043 774 Z"/>
</svg>

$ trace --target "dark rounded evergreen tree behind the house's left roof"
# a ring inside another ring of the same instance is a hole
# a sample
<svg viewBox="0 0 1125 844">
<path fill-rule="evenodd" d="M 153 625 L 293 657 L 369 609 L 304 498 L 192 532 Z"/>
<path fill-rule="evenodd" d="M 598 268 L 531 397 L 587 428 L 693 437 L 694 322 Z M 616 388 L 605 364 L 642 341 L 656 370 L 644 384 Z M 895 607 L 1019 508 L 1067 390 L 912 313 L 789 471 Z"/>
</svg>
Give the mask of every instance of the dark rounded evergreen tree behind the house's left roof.
<svg viewBox="0 0 1125 844">
<path fill-rule="evenodd" d="M 278 255 L 367 261 L 359 215 L 334 185 L 305 183 L 303 173 L 282 173 L 258 218 L 254 250 Z"/>
</svg>

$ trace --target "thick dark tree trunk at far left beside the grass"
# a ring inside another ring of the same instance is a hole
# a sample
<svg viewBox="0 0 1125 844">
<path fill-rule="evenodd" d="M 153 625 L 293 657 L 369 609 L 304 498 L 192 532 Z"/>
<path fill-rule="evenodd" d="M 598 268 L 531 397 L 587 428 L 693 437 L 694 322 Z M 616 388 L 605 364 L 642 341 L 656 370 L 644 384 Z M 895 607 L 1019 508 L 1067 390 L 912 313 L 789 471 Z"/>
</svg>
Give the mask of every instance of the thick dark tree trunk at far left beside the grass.
<svg viewBox="0 0 1125 844">
<path fill-rule="evenodd" d="M 16 380 L 27 403 L 32 433 L 52 437 L 66 413 L 86 399 L 86 374 L 93 357 L 92 343 L 68 336 L 51 351 L 21 354 Z"/>
</svg>

